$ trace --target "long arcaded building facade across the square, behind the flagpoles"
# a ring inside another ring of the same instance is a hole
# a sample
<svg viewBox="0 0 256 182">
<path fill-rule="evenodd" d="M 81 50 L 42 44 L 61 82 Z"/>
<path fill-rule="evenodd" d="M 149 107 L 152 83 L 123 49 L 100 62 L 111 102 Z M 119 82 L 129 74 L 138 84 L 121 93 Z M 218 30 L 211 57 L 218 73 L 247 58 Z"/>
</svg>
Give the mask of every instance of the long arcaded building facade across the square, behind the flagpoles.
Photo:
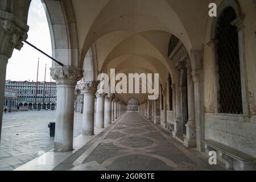
<svg viewBox="0 0 256 182">
<path fill-rule="evenodd" d="M 51 109 L 55 110 L 57 100 L 57 87 L 55 82 L 10 81 L 5 82 L 5 88 L 17 90 L 15 106 L 19 109 Z"/>
</svg>

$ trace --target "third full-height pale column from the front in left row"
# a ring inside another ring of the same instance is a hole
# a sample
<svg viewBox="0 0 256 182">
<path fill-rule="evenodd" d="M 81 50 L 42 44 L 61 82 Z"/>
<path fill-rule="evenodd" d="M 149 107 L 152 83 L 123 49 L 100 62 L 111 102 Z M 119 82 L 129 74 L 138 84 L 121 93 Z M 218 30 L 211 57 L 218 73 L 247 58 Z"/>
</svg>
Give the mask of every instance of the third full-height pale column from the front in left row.
<svg viewBox="0 0 256 182">
<path fill-rule="evenodd" d="M 104 128 L 104 106 L 105 106 L 105 93 L 96 92 L 97 109 L 96 109 L 96 127 Z"/>
</svg>

